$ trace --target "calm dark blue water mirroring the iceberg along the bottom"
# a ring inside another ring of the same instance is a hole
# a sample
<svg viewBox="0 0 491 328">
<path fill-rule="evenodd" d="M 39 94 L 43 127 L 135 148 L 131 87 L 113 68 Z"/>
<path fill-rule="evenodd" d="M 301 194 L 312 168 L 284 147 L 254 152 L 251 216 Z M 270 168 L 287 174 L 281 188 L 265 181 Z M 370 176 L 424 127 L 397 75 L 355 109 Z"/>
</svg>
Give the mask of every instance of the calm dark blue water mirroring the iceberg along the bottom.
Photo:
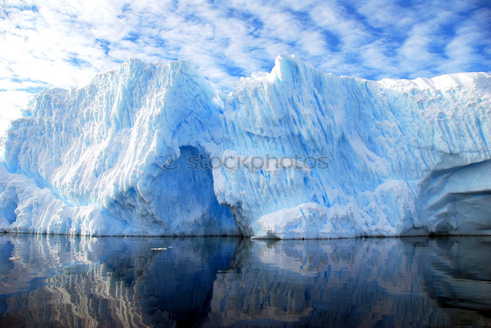
<svg viewBox="0 0 491 328">
<path fill-rule="evenodd" d="M 0 256 L 0 327 L 491 326 L 491 237 L 3 234 Z"/>
</svg>

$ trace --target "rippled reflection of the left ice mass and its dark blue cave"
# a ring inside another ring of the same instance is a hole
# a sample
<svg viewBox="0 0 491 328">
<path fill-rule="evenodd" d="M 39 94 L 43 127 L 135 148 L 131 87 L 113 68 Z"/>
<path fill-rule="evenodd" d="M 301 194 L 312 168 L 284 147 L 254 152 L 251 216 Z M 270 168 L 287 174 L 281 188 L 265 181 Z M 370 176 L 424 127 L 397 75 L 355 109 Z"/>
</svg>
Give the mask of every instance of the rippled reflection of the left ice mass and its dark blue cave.
<svg viewBox="0 0 491 328">
<path fill-rule="evenodd" d="M 149 251 L 162 239 L 0 236 L 2 254 L 26 254 L 0 266 L 0 327 L 199 326 L 237 240 L 171 242 L 173 253 Z"/>
</svg>

